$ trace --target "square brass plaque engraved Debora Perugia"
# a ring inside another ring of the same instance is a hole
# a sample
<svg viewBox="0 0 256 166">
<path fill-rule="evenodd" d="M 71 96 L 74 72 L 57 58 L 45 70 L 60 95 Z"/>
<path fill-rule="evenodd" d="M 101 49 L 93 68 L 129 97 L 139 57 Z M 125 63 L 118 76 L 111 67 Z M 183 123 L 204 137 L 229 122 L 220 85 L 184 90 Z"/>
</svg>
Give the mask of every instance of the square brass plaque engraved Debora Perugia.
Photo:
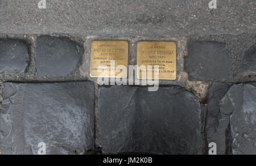
<svg viewBox="0 0 256 166">
<path fill-rule="evenodd" d="M 176 79 L 176 44 L 173 41 L 138 41 L 137 43 L 137 70 L 138 79 L 142 75 L 151 74 L 152 79 L 157 72 L 158 66 L 159 79 Z M 142 66 L 146 67 L 143 70 Z M 149 67 L 148 67 L 149 66 Z M 152 66 L 152 67 L 150 67 Z M 144 77 L 143 77 L 144 78 Z"/>
</svg>

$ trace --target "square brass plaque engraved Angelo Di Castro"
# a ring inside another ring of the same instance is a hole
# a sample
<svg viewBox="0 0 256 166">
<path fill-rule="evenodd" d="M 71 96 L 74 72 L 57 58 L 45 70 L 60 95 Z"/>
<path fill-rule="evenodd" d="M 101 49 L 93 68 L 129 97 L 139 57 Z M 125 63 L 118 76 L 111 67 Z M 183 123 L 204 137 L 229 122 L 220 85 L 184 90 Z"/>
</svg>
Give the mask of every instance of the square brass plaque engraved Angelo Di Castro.
<svg viewBox="0 0 256 166">
<path fill-rule="evenodd" d="M 94 40 L 90 49 L 90 76 L 126 78 L 128 41 Z"/>
</svg>

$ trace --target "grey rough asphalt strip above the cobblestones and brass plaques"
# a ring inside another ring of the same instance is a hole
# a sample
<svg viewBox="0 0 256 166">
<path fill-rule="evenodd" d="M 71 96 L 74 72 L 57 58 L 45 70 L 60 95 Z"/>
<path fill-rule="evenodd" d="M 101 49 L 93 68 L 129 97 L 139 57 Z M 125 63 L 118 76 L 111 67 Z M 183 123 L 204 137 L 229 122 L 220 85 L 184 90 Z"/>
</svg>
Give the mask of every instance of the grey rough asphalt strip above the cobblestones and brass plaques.
<svg viewBox="0 0 256 166">
<path fill-rule="evenodd" d="M 1 0 L 0 32 L 187 36 L 255 32 L 255 0 Z M 238 12 L 239 11 L 239 12 Z"/>
</svg>

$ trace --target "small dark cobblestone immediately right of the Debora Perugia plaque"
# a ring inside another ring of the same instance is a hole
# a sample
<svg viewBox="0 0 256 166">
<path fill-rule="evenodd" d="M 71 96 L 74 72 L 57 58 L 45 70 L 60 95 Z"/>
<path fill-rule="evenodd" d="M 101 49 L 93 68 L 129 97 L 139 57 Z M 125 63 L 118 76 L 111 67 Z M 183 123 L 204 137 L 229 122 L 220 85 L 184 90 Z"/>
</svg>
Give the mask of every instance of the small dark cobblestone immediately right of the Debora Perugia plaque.
<svg viewBox="0 0 256 166">
<path fill-rule="evenodd" d="M 192 41 L 188 43 L 185 71 L 189 79 L 221 80 L 230 74 L 230 58 L 225 44 L 216 41 Z"/>
</svg>

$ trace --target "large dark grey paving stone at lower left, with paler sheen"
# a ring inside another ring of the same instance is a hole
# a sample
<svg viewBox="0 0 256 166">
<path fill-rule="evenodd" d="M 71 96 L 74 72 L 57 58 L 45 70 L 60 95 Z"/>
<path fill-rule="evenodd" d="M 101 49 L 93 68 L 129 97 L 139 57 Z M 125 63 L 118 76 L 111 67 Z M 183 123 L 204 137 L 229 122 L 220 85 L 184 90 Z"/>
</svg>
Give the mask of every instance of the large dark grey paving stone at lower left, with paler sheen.
<svg viewBox="0 0 256 166">
<path fill-rule="evenodd" d="M 94 84 L 3 83 L 2 154 L 75 154 L 94 146 Z"/>
</svg>

